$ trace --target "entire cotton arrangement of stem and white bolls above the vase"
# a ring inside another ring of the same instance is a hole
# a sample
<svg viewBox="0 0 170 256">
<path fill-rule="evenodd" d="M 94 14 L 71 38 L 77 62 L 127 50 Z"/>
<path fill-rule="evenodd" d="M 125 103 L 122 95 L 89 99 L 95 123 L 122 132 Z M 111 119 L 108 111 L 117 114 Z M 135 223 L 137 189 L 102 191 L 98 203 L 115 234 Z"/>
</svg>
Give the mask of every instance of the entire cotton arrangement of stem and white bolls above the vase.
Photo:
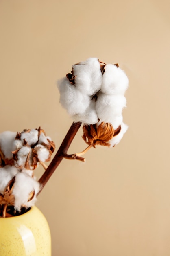
<svg viewBox="0 0 170 256">
<path fill-rule="evenodd" d="M 124 94 L 128 78 L 118 64 L 105 64 L 98 58 L 72 65 L 71 73 L 57 83 L 60 103 L 72 117 L 68 130 L 56 155 L 51 159 L 55 144 L 44 130 L 0 134 L 0 216 L 15 216 L 32 207 L 63 158 L 77 159 L 96 145 L 114 147 L 120 142 L 128 126 L 122 110 L 126 107 Z M 78 129 L 83 126 L 83 140 L 87 147 L 81 153 L 68 154 Z M 37 181 L 35 169 L 45 169 Z M 12 207 L 8 212 L 8 208 Z M 24 209 L 24 210 L 23 210 Z"/>
</svg>

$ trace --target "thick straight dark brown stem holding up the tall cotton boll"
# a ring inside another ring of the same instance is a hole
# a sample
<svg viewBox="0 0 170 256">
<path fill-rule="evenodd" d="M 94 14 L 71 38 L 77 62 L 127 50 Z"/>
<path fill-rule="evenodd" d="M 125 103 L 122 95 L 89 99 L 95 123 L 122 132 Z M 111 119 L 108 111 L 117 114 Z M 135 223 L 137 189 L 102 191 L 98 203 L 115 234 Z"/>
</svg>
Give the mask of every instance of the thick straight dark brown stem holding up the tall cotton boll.
<svg viewBox="0 0 170 256">
<path fill-rule="evenodd" d="M 52 162 L 50 163 L 50 165 L 48 166 L 44 174 L 39 179 L 39 183 L 41 185 L 41 189 L 39 193 L 44 188 L 44 186 L 50 179 L 51 175 L 54 173 L 56 168 L 59 166 L 59 164 L 63 160 L 63 155 L 67 154 L 68 148 L 70 147 L 70 144 L 72 143 L 72 140 L 74 139 L 80 126 L 81 126 L 81 122 L 72 123 L 70 129 L 68 130 L 68 133 L 66 134 L 65 138 L 63 139 L 63 142 L 61 143 L 61 146 L 59 147 L 59 150 L 57 151 L 56 155 L 52 159 Z"/>
</svg>

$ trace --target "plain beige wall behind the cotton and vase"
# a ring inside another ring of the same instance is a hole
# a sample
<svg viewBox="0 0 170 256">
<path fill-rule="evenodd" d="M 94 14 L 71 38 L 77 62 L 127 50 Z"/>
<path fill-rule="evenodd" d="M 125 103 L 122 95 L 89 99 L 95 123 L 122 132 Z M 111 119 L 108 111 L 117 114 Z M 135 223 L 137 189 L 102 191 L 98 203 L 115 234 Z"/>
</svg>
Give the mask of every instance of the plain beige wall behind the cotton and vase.
<svg viewBox="0 0 170 256">
<path fill-rule="evenodd" d="M 58 148 L 72 120 L 56 81 L 89 57 L 119 63 L 130 81 L 120 144 L 63 160 L 38 197 L 52 256 L 170 255 L 169 7 L 0 0 L 0 132 L 41 126 Z M 85 148 L 81 135 L 69 153 Z"/>
</svg>

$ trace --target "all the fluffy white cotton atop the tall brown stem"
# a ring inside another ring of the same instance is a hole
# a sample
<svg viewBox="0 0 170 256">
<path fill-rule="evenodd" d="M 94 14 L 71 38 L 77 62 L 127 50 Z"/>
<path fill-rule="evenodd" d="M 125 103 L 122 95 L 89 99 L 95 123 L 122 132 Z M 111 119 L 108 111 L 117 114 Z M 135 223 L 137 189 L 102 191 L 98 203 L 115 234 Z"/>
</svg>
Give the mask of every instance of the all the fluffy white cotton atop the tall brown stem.
<svg viewBox="0 0 170 256">
<path fill-rule="evenodd" d="M 113 138 L 117 144 L 126 131 L 122 110 L 126 107 L 124 93 L 129 80 L 123 70 L 113 64 L 102 64 L 97 58 L 89 58 L 72 66 L 74 85 L 67 77 L 59 82 L 60 102 L 74 122 L 96 124 L 111 123 L 114 130 L 122 125 L 119 135 Z"/>
</svg>

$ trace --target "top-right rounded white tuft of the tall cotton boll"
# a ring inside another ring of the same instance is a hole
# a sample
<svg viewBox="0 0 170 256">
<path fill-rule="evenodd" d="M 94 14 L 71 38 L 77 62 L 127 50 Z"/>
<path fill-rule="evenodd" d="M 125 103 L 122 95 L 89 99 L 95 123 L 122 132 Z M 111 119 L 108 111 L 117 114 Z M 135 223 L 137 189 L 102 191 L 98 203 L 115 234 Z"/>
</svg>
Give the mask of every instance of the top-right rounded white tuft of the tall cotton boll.
<svg viewBox="0 0 170 256">
<path fill-rule="evenodd" d="M 106 94 L 124 94 L 129 80 L 123 70 L 116 65 L 107 64 L 102 78 L 101 91 Z"/>
</svg>

